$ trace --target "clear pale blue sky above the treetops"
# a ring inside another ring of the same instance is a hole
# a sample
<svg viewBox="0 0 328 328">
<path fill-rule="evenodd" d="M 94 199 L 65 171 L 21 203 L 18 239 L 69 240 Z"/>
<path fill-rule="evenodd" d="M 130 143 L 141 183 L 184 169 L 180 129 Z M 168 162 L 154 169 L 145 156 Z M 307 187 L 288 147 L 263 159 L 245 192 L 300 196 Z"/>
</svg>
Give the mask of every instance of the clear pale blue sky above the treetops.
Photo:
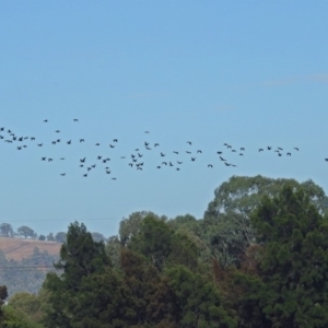
<svg viewBox="0 0 328 328">
<path fill-rule="evenodd" d="M 201 219 L 233 175 L 327 192 L 327 1 L 1 1 L 0 223 L 48 234 L 77 220 L 108 237 L 134 211 Z"/>
</svg>

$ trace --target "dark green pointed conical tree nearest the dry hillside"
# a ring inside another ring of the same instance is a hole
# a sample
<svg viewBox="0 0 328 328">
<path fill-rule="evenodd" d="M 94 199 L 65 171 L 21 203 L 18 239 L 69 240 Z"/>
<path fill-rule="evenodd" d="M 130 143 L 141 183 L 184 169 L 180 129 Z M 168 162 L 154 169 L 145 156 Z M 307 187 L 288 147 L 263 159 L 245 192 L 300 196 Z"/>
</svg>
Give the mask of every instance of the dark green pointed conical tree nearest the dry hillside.
<svg viewBox="0 0 328 328">
<path fill-rule="evenodd" d="M 116 323 L 120 316 L 131 316 L 128 292 L 110 268 L 104 243 L 94 242 L 83 223 L 74 222 L 69 226 L 60 260 L 55 267 L 62 273 L 60 277 L 48 273 L 45 282 L 52 307 L 47 314 L 49 327 L 108 327 L 106 320 Z M 117 290 L 110 290 L 113 286 Z M 117 307 L 109 311 L 106 306 L 110 305 L 112 294 L 122 300 L 113 301 Z M 110 327 L 121 327 L 115 325 Z"/>
</svg>

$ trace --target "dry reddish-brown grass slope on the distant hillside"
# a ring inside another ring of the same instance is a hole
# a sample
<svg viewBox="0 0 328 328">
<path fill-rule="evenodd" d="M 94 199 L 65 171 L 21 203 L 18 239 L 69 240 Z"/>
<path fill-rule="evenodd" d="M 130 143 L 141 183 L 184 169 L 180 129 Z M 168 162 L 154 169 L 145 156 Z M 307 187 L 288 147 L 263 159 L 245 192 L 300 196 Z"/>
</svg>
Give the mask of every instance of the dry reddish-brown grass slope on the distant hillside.
<svg viewBox="0 0 328 328">
<path fill-rule="evenodd" d="M 34 247 L 40 251 L 47 250 L 51 255 L 58 255 L 61 244 L 55 242 L 42 242 L 35 239 L 0 237 L 0 249 L 7 259 L 21 260 L 33 254 Z"/>
</svg>

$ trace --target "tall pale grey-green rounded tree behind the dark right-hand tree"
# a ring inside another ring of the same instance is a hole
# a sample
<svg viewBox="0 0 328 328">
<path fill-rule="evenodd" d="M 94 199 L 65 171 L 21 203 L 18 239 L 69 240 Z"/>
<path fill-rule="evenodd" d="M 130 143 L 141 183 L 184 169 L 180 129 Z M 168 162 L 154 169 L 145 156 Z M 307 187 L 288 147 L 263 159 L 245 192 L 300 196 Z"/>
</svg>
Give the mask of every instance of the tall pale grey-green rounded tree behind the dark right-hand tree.
<svg viewBox="0 0 328 328">
<path fill-rule="evenodd" d="M 259 206 L 263 196 L 273 198 L 285 183 L 292 188 L 304 187 L 304 192 L 316 209 L 320 213 L 327 212 L 328 198 L 312 180 L 300 184 L 294 179 L 273 179 L 260 175 L 233 176 L 215 189 L 214 199 L 209 203 L 200 224 L 200 238 L 222 266 L 239 266 L 246 249 L 255 244 L 250 213 Z"/>
</svg>

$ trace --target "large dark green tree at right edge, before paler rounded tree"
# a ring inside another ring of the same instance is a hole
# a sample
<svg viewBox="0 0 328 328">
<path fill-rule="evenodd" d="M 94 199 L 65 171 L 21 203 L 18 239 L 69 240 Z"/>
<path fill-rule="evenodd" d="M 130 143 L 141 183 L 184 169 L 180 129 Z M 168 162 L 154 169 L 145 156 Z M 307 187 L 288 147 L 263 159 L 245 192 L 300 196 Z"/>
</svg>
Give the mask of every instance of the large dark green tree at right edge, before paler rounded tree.
<svg viewBox="0 0 328 328">
<path fill-rule="evenodd" d="M 327 219 L 302 187 L 286 185 L 263 198 L 251 215 L 262 245 L 258 276 L 236 276 L 245 289 L 238 304 L 244 323 L 257 313 L 270 324 L 260 327 L 328 326 Z"/>
</svg>

